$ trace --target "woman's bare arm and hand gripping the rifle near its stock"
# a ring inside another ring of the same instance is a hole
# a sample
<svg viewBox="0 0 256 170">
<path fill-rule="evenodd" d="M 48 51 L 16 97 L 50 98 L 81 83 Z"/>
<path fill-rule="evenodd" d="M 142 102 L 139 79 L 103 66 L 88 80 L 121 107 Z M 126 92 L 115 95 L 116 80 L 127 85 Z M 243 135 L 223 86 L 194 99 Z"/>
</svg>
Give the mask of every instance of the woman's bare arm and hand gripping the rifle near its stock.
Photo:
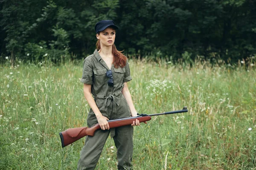
<svg viewBox="0 0 256 170">
<path fill-rule="evenodd" d="M 84 97 L 87 100 L 88 104 L 90 105 L 90 108 L 93 110 L 101 129 L 102 130 L 109 129 L 109 125 L 107 121 L 108 118 L 105 116 L 102 116 L 102 113 L 100 113 L 99 108 L 97 107 L 93 99 L 93 96 L 91 95 L 91 86 L 92 85 L 84 84 Z"/>
</svg>

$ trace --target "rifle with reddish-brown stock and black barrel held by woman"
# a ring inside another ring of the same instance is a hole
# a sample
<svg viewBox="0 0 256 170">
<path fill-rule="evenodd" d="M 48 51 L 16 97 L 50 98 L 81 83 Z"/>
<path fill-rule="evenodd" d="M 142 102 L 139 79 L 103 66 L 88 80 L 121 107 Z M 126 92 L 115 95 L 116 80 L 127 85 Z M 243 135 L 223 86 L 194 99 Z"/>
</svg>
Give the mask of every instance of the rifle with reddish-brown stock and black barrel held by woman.
<svg viewBox="0 0 256 170">
<path fill-rule="evenodd" d="M 157 115 L 163 115 L 163 114 L 175 114 L 175 113 L 183 113 L 188 112 L 187 108 L 184 107 L 182 110 L 179 111 L 170 111 L 170 112 L 164 112 L 164 113 L 156 113 L 156 114 L 139 114 L 135 117 L 128 117 L 128 118 L 122 118 L 122 119 L 114 119 L 114 120 L 108 120 L 108 125 L 110 128 L 113 127 L 120 127 L 120 126 L 126 126 L 131 125 L 133 121 L 138 119 L 140 122 L 146 122 L 151 120 L 151 116 L 157 116 Z M 61 145 L 62 147 L 65 147 L 69 144 L 72 144 L 73 142 L 76 142 L 77 140 L 81 139 L 84 136 L 93 136 L 95 131 L 101 129 L 99 126 L 99 123 L 92 127 L 76 127 L 76 128 L 70 128 L 65 130 L 64 132 L 60 132 L 61 137 Z"/>
</svg>

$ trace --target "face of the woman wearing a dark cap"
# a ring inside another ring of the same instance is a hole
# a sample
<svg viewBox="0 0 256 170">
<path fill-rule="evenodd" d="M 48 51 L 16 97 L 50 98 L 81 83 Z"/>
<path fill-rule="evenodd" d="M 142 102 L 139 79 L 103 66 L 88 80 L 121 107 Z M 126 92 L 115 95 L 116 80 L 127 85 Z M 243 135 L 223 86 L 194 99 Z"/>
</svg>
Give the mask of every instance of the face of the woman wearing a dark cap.
<svg viewBox="0 0 256 170">
<path fill-rule="evenodd" d="M 115 42 L 116 30 L 108 27 L 105 30 L 101 31 L 99 34 L 96 34 L 96 37 L 100 41 L 101 46 L 111 46 Z"/>
</svg>

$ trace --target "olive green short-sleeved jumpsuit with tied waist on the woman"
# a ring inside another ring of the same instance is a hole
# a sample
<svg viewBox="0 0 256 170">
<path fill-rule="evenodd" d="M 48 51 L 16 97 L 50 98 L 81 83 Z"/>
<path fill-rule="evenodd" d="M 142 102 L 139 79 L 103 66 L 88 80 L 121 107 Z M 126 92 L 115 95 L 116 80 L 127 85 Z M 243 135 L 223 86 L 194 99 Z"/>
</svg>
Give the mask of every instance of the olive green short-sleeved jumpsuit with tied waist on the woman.
<svg viewBox="0 0 256 170">
<path fill-rule="evenodd" d="M 81 82 L 92 85 L 96 105 L 103 116 L 108 119 L 120 119 L 131 117 L 131 111 L 125 97 L 122 95 L 124 82 L 131 81 L 128 61 L 124 68 L 111 66 L 114 86 L 108 86 L 106 71 L 109 68 L 95 50 L 92 55 L 84 59 Z M 98 123 L 95 114 L 90 109 L 87 116 L 87 126 Z M 111 128 L 110 130 L 96 130 L 94 136 L 87 136 L 84 147 L 80 152 L 78 170 L 94 170 L 105 142 L 111 133 L 111 137 L 117 148 L 118 170 L 132 170 L 133 154 L 133 127 L 131 125 Z"/>
</svg>

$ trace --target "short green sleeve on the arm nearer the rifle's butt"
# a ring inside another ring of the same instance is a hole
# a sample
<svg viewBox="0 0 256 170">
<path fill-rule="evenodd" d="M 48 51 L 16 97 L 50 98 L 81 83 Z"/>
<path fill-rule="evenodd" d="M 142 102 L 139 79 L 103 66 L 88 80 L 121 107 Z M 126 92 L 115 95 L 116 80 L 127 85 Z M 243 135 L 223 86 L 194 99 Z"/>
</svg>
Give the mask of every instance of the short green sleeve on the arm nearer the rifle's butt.
<svg viewBox="0 0 256 170">
<path fill-rule="evenodd" d="M 84 59 L 83 74 L 80 82 L 88 85 L 93 84 L 93 66 L 88 59 Z"/>
</svg>

